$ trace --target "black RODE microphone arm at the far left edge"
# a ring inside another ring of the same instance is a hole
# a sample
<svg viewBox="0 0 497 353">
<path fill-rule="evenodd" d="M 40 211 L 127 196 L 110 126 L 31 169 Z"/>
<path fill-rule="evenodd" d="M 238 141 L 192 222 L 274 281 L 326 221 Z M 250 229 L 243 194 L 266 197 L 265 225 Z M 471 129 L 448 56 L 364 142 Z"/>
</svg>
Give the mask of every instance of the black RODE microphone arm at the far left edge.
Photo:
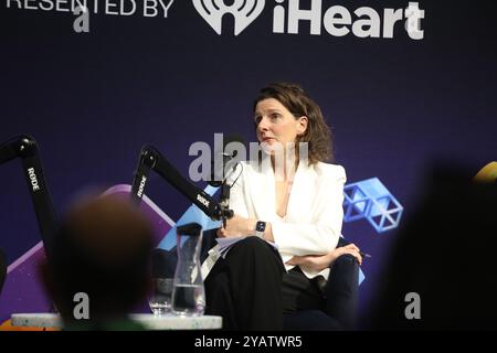
<svg viewBox="0 0 497 353">
<path fill-rule="evenodd" d="M 0 165 L 15 158 L 21 159 L 45 255 L 50 260 L 60 223 L 34 138 L 28 135 L 21 135 L 0 145 Z"/>
</svg>

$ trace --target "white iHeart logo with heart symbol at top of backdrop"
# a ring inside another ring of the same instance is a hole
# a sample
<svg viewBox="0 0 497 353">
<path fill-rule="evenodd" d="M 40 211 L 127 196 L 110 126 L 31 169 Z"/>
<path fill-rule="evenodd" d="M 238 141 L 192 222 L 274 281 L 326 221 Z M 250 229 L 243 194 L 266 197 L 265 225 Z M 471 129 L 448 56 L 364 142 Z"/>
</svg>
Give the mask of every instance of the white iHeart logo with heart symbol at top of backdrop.
<svg viewBox="0 0 497 353">
<path fill-rule="evenodd" d="M 264 10 L 265 0 L 193 0 L 193 6 L 209 25 L 221 35 L 225 14 L 234 18 L 234 35 L 244 31 Z M 273 33 L 299 34 L 309 31 L 311 35 L 326 32 L 332 36 L 352 33 L 357 38 L 392 39 L 398 22 L 412 40 L 424 39 L 421 20 L 424 10 L 417 2 L 409 2 L 403 9 L 385 8 L 377 11 L 370 7 L 360 7 L 350 11 L 343 6 L 324 7 L 322 0 L 274 0 Z"/>
</svg>

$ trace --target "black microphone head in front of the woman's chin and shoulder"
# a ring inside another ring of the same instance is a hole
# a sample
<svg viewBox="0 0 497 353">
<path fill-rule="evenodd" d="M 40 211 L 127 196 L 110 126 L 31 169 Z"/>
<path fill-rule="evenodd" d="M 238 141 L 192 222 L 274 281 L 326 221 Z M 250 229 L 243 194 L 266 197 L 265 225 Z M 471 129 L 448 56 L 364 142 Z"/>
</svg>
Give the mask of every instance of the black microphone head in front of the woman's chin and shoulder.
<svg viewBox="0 0 497 353">
<path fill-rule="evenodd" d="M 245 145 L 245 140 L 240 135 L 230 135 L 223 139 L 222 147 L 214 150 L 209 185 L 219 188 L 224 183 L 236 169 L 237 162 L 246 156 Z M 241 153 L 241 151 L 245 153 Z"/>
</svg>

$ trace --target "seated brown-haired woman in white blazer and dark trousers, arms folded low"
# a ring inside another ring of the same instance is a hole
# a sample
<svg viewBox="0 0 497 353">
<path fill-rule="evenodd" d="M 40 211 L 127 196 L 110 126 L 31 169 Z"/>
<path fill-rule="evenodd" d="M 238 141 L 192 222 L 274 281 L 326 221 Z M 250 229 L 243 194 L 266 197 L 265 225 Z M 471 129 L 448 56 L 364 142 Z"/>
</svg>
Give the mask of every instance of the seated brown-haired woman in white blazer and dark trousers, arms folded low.
<svg viewBox="0 0 497 353">
<path fill-rule="evenodd" d="M 300 86 L 276 83 L 255 99 L 254 125 L 263 153 L 242 162 L 235 215 L 218 231 L 246 237 L 224 258 L 209 252 L 207 313 L 226 330 L 352 329 L 362 258 L 353 244 L 337 247 L 346 173 L 325 162 L 320 108 Z"/>
</svg>

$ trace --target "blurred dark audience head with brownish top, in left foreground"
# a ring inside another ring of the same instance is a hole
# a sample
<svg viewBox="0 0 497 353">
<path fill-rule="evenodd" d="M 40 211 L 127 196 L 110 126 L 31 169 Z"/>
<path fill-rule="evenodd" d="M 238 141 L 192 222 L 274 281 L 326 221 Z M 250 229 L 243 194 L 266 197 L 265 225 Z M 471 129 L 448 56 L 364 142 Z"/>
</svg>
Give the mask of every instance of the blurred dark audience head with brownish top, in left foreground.
<svg viewBox="0 0 497 353">
<path fill-rule="evenodd" d="M 42 267 L 64 322 L 82 323 L 74 317 L 76 293 L 89 299 L 87 322 L 125 318 L 146 296 L 151 250 L 151 227 L 129 201 L 103 196 L 74 206 Z"/>
</svg>

